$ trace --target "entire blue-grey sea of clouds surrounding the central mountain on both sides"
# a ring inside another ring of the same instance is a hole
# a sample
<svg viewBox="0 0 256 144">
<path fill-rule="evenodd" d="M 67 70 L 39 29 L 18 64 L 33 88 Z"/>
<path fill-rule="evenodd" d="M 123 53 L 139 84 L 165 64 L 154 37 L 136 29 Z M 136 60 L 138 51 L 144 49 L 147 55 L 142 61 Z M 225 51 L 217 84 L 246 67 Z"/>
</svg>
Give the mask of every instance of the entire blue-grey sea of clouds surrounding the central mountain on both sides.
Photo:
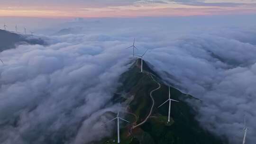
<svg viewBox="0 0 256 144">
<path fill-rule="evenodd" d="M 240 144 L 245 114 L 247 144 L 253 144 L 256 29 L 163 19 L 68 22 L 41 35 L 49 46 L 1 52 L 1 144 L 87 144 L 110 136 L 113 126 L 101 125 L 117 109 L 111 98 L 135 60 L 125 49 L 134 37 L 137 54 L 149 49 L 145 60 L 162 79 L 202 100 L 189 101 L 201 126 Z"/>
</svg>

